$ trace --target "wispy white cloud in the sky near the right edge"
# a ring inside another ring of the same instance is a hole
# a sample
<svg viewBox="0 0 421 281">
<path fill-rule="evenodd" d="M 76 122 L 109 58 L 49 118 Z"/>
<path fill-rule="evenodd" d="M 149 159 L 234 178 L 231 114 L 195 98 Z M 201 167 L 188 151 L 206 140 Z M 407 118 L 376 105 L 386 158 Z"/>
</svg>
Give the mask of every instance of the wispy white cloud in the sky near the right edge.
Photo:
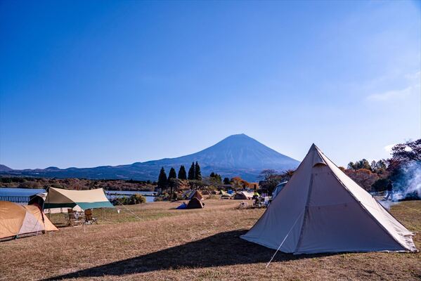
<svg viewBox="0 0 421 281">
<path fill-rule="evenodd" d="M 372 101 L 388 101 L 396 100 L 399 98 L 406 98 L 407 96 L 420 93 L 421 72 L 418 71 L 413 74 L 407 74 L 405 75 L 405 78 L 409 86 L 406 86 L 403 89 L 384 91 L 382 93 L 374 93 L 370 96 L 367 96 L 366 99 Z"/>
</svg>

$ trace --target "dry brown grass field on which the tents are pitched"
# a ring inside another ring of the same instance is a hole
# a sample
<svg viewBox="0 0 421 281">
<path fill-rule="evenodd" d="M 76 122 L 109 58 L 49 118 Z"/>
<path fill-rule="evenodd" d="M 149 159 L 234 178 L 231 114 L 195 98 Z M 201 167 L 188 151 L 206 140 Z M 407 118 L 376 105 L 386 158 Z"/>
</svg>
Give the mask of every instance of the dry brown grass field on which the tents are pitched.
<svg viewBox="0 0 421 281">
<path fill-rule="evenodd" d="M 96 211 L 100 223 L 0 243 L 0 280 L 420 280 L 421 254 L 278 253 L 241 240 L 264 209 L 205 200 L 205 209 L 155 202 Z M 420 235 L 421 201 L 391 213 Z M 134 216 L 133 214 L 136 214 Z M 53 222 L 63 221 L 59 214 Z"/>
</svg>

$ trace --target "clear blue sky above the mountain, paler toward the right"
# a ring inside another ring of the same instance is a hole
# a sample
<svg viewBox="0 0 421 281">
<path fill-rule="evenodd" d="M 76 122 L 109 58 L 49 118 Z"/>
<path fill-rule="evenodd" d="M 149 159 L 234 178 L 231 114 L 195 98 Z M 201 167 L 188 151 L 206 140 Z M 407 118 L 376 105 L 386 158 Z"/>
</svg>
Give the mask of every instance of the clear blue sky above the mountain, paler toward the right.
<svg viewBox="0 0 421 281">
<path fill-rule="evenodd" d="M 1 1 L 0 163 L 177 157 L 246 133 L 301 160 L 421 134 L 419 1 Z"/>
</svg>

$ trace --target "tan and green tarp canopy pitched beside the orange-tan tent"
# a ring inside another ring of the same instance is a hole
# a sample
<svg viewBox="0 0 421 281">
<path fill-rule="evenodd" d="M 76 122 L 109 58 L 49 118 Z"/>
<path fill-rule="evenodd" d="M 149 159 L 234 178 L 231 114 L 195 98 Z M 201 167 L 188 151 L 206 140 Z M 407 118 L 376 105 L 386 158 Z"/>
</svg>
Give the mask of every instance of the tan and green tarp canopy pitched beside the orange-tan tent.
<svg viewBox="0 0 421 281">
<path fill-rule="evenodd" d="M 102 188 L 92 190 L 65 190 L 61 188 L 48 188 L 48 195 L 44 208 L 73 208 L 81 209 L 114 208 Z"/>
</svg>

